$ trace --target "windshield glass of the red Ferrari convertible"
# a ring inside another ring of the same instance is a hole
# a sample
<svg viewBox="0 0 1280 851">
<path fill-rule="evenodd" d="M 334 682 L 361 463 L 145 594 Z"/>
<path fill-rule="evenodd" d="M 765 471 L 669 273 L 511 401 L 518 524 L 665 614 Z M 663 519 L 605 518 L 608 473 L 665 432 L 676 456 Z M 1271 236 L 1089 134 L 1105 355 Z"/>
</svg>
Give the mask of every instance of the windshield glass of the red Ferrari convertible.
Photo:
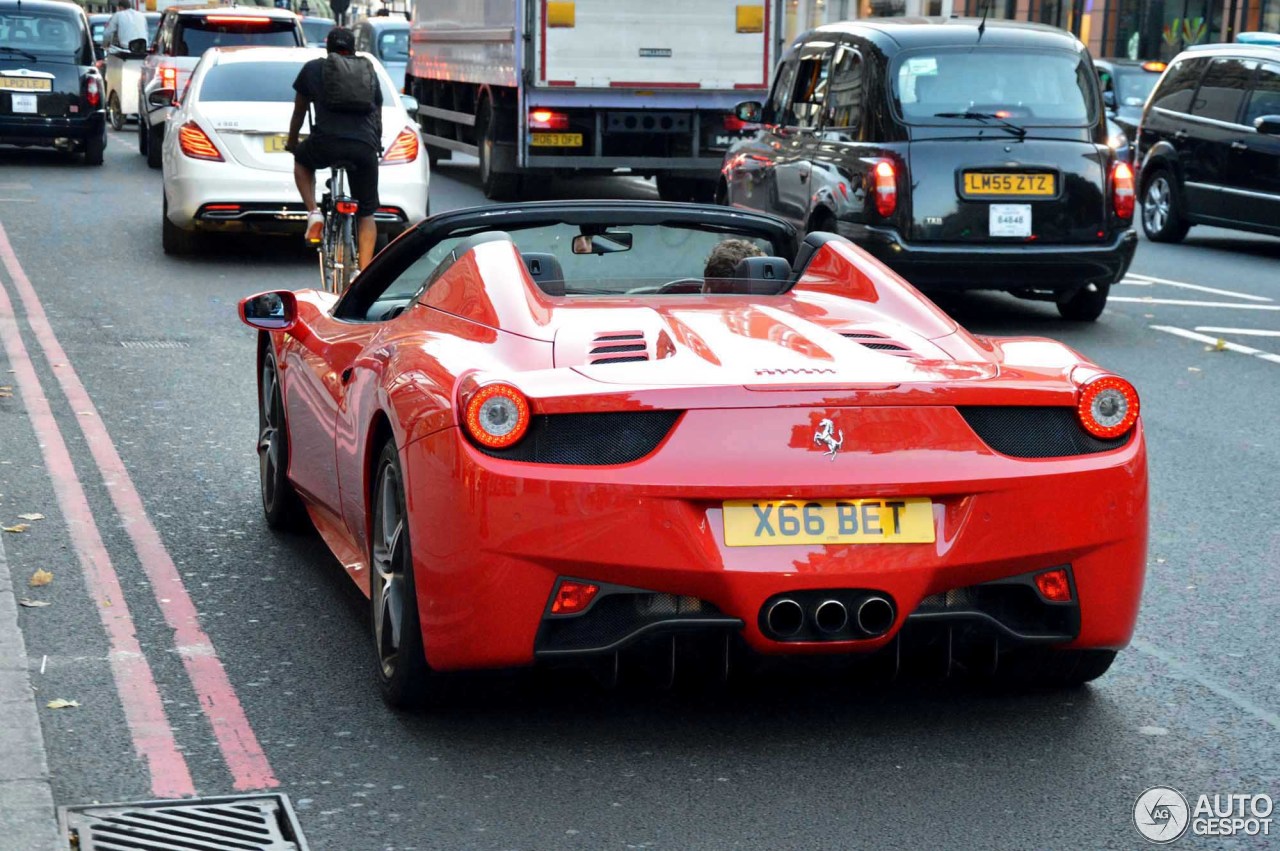
<svg viewBox="0 0 1280 851">
<path fill-rule="evenodd" d="M 742 256 L 772 256 L 781 251 L 759 237 L 692 227 L 620 224 L 595 230 L 603 230 L 604 241 L 614 247 L 620 241 L 611 239 L 609 234 L 630 234 L 631 247 L 605 253 L 575 253 L 575 238 L 584 237 L 584 228 L 562 223 L 508 229 L 507 233 L 526 265 L 532 256 L 539 257 L 541 274 L 535 282 L 541 284 L 548 278 L 563 282 L 564 296 L 690 294 L 701 293 L 704 284 L 712 292 L 745 293 L 749 292 L 745 283 L 723 270 L 731 270 Z M 435 267 L 468 235 L 471 233 L 445 237 L 435 243 L 379 301 L 416 294 Z M 731 244 L 722 247 L 726 242 Z M 708 269 L 713 252 L 724 258 L 719 271 Z M 712 274 L 705 274 L 708 271 Z"/>
</svg>

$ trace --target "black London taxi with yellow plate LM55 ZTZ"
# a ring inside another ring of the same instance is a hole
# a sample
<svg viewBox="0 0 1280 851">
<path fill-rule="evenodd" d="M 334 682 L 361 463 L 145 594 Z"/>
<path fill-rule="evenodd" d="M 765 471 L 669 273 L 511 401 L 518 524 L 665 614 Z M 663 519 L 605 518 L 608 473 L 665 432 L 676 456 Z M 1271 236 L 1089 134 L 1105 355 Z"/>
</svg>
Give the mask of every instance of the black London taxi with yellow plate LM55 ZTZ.
<svg viewBox="0 0 1280 851">
<path fill-rule="evenodd" d="M 1133 260 L 1133 173 L 1061 29 L 886 18 L 786 51 L 718 200 L 835 230 L 923 288 L 1004 289 L 1093 320 Z"/>
</svg>

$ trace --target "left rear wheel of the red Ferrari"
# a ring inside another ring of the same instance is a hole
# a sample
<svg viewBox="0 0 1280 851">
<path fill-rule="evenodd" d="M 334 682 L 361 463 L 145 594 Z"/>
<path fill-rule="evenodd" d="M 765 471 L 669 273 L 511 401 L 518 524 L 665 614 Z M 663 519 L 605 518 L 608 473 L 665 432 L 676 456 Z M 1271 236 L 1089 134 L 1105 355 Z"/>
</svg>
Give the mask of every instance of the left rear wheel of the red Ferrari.
<svg viewBox="0 0 1280 851">
<path fill-rule="evenodd" d="M 378 688 L 393 709 L 422 706 L 434 680 L 422 651 L 413 550 L 396 441 L 378 456 L 369 536 L 369 604 Z"/>
</svg>

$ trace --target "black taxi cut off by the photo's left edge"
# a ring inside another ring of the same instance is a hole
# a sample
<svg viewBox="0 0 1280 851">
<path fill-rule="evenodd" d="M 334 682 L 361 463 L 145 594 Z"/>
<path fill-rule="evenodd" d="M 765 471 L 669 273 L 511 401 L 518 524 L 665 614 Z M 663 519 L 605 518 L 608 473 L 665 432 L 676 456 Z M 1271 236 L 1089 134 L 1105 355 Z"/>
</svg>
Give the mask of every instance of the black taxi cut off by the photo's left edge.
<svg viewBox="0 0 1280 851">
<path fill-rule="evenodd" d="M 84 10 L 59 0 L 0 0 L 0 145 L 106 150 L 102 78 Z"/>
</svg>

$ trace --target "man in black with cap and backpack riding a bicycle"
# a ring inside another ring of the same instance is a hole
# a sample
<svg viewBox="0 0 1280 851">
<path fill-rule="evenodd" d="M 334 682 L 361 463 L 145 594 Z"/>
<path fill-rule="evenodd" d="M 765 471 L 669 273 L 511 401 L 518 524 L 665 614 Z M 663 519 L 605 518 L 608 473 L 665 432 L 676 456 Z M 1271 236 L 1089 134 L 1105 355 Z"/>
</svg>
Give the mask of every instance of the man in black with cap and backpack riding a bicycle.
<svg viewBox="0 0 1280 851">
<path fill-rule="evenodd" d="M 383 92 L 372 64 L 355 55 L 352 31 L 330 29 L 325 49 L 329 55 L 305 64 L 293 81 L 293 118 L 284 148 L 293 154 L 293 179 L 307 210 L 306 239 L 310 243 L 320 242 L 324 229 L 324 215 L 316 210 L 316 169 L 346 164 L 351 193 L 358 203 L 356 242 L 358 265 L 364 269 L 378 241 L 374 212 L 378 211 L 378 160 L 383 151 Z M 347 61 L 335 61 L 335 55 Z M 367 68 L 367 74 L 362 68 Z M 338 79 L 339 74 L 349 79 Z M 357 90 L 355 95 L 353 88 Z M 366 88 L 367 100 L 361 102 Z M 315 109 L 311 136 L 300 143 L 302 119 L 310 109 Z"/>
</svg>

